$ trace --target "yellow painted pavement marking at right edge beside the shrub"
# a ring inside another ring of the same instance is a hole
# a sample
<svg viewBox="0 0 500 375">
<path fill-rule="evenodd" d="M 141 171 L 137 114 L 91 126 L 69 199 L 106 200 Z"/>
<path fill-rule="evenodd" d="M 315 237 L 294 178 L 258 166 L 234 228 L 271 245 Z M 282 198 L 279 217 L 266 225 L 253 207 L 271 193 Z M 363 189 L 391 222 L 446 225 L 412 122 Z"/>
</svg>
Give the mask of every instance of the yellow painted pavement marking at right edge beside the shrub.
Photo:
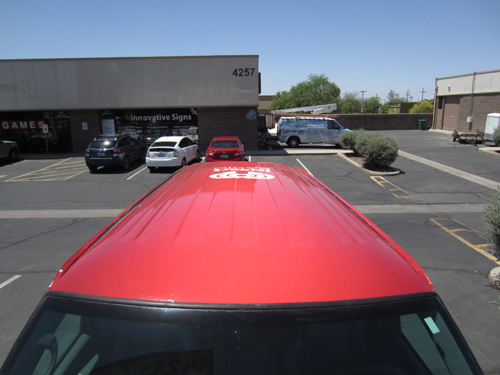
<svg viewBox="0 0 500 375">
<path fill-rule="evenodd" d="M 500 260 L 497 257 L 484 250 L 490 248 L 492 245 L 490 243 L 483 243 L 483 237 L 480 231 L 469 228 L 467 225 L 456 219 L 432 218 L 430 221 L 463 244 L 469 246 L 478 253 L 484 255 L 486 258 L 500 265 Z"/>
</svg>

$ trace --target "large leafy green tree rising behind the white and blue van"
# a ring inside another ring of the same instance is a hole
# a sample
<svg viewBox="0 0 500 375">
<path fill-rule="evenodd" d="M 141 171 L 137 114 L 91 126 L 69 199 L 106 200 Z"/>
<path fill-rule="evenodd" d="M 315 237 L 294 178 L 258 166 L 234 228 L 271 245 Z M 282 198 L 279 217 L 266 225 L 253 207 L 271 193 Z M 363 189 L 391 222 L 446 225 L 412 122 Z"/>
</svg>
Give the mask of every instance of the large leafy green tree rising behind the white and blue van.
<svg viewBox="0 0 500 375">
<path fill-rule="evenodd" d="M 311 74 L 308 80 L 292 86 L 290 91 L 278 91 L 269 110 L 335 103 L 339 95 L 340 88 L 328 77 Z"/>
</svg>

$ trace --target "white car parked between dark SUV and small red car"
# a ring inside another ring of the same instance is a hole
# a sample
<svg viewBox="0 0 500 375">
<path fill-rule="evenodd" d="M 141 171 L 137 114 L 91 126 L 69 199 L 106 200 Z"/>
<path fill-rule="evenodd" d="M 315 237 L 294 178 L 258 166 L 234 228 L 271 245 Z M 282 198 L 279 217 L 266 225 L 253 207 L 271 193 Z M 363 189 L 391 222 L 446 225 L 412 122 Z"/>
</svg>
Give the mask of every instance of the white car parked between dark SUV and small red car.
<svg viewBox="0 0 500 375">
<path fill-rule="evenodd" d="M 198 144 L 188 137 L 160 137 L 149 146 L 146 165 L 152 171 L 158 167 L 183 167 L 200 160 Z"/>
</svg>

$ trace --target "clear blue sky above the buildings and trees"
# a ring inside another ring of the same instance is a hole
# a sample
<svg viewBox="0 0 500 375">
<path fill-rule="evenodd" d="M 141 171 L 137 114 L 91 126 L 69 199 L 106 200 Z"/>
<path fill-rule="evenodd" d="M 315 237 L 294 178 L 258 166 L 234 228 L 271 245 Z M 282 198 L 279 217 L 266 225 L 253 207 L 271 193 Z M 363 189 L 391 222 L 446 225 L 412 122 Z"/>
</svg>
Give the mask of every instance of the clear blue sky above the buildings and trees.
<svg viewBox="0 0 500 375">
<path fill-rule="evenodd" d="M 324 74 L 341 93 L 434 97 L 500 69 L 500 0 L 0 0 L 0 59 L 259 55 L 262 94 Z"/>
</svg>

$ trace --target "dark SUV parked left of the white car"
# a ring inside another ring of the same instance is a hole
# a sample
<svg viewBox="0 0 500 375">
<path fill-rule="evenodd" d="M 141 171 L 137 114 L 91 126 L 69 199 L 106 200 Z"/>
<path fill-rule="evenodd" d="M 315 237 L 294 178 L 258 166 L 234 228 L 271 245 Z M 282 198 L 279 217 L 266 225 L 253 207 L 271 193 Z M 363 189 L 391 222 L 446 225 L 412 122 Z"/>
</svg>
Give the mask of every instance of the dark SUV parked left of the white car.
<svg viewBox="0 0 500 375">
<path fill-rule="evenodd" d="M 85 150 L 85 162 L 91 172 L 100 166 L 121 167 L 125 170 L 136 160 L 144 160 L 146 147 L 129 135 L 100 135 Z"/>
</svg>

